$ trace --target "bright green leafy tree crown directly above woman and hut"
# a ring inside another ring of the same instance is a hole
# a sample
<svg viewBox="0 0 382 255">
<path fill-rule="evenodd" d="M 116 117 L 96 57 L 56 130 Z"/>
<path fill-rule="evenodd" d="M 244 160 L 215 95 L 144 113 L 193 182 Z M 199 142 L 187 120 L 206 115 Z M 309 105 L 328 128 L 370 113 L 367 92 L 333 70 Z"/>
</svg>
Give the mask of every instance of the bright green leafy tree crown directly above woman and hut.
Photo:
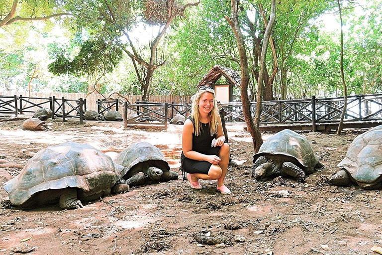
<svg viewBox="0 0 382 255">
<path fill-rule="evenodd" d="M 224 15 L 229 13 L 226 1 L 201 1 L 192 9 L 189 20 L 183 22 L 170 38 L 169 47 L 176 55 L 167 63 L 164 73 L 173 73 L 173 84 L 180 95 L 192 95 L 204 75 L 221 65 L 239 70 L 236 41 Z M 234 60 L 234 61 L 232 61 Z"/>
</svg>

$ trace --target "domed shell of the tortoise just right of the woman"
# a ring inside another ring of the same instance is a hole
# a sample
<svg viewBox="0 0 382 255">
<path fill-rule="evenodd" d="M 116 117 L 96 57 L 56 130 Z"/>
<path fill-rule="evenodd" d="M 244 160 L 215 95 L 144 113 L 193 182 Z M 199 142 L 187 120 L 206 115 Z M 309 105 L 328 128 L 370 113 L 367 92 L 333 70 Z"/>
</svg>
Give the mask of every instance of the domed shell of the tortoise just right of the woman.
<svg viewBox="0 0 382 255">
<path fill-rule="evenodd" d="M 275 156 L 292 157 L 298 161 L 304 172 L 312 173 L 315 165 L 320 159 L 315 155 L 313 148 L 306 137 L 290 130 L 284 129 L 270 138 L 268 138 L 253 157 L 253 162 L 261 156 L 265 155 L 268 158 Z M 286 158 L 286 160 L 288 160 Z"/>
</svg>

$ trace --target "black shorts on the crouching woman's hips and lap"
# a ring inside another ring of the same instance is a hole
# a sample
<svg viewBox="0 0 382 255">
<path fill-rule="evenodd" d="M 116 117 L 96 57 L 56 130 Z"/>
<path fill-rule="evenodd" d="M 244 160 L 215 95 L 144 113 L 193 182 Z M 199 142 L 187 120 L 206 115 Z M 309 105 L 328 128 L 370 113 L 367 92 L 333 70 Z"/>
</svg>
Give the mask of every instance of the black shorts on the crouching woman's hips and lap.
<svg viewBox="0 0 382 255">
<path fill-rule="evenodd" d="M 211 147 L 211 149 L 207 153 L 203 153 L 206 155 L 217 155 L 219 153 L 220 146 Z M 193 160 L 181 154 L 181 167 L 182 172 L 186 173 L 204 173 L 208 174 L 209 168 L 211 168 L 211 163 L 207 161 L 199 161 Z"/>
</svg>

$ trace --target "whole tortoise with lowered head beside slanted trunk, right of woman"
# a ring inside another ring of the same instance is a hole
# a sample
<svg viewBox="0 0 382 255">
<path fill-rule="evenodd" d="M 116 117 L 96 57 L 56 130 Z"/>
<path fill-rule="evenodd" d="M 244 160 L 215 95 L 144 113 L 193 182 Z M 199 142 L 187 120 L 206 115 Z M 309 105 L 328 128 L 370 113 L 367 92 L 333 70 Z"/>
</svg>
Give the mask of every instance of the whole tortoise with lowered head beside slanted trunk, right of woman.
<svg viewBox="0 0 382 255">
<path fill-rule="evenodd" d="M 269 137 L 253 156 L 252 176 L 264 179 L 275 173 L 291 176 L 298 182 L 305 180 L 323 165 L 318 162 L 309 141 L 298 133 L 284 129 Z"/>
</svg>

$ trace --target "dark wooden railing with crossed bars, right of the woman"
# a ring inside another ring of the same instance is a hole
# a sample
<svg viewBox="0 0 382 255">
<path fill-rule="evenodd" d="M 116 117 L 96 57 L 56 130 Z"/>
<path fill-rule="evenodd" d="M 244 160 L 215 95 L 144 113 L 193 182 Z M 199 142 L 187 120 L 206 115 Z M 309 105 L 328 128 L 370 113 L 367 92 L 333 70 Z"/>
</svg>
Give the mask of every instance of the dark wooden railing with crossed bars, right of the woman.
<svg viewBox="0 0 382 255">
<path fill-rule="evenodd" d="M 323 123 L 338 123 L 345 105 L 344 97 L 265 101 L 262 103 L 260 125 L 311 124 L 312 129 Z M 222 104 L 225 122 L 243 122 L 241 103 Z M 256 103 L 251 104 L 255 116 Z M 356 95 L 347 98 L 344 122 L 381 122 L 382 94 Z"/>
</svg>

